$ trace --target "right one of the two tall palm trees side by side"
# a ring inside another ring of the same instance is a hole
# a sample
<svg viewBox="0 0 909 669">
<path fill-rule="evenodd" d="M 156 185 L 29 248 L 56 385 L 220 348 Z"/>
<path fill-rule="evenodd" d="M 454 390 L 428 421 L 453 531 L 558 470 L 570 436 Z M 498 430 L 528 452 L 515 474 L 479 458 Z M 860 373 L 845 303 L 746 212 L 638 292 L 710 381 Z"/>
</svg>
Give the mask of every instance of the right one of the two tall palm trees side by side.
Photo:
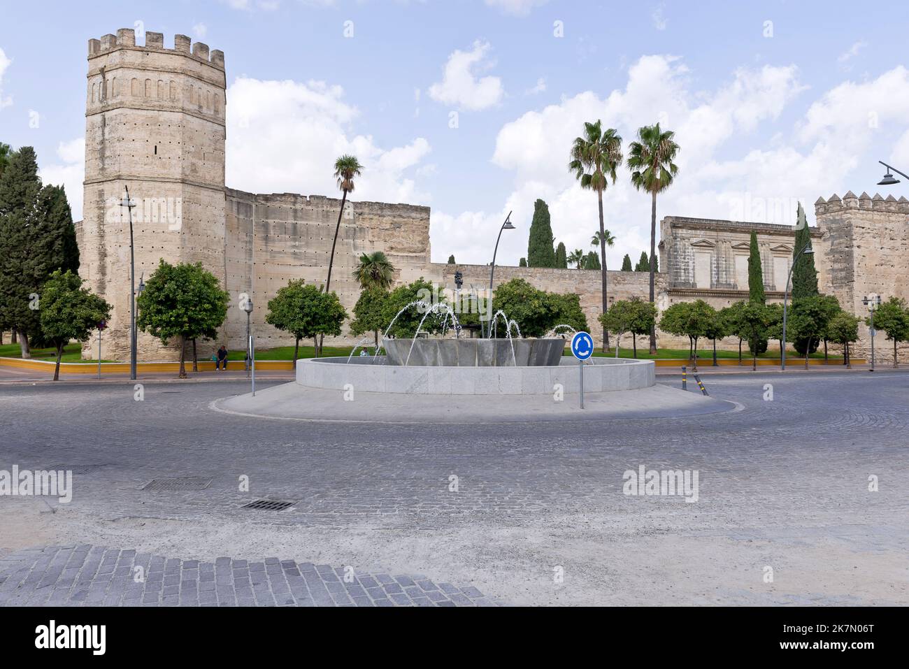
<svg viewBox="0 0 909 669">
<path fill-rule="evenodd" d="M 679 145 L 671 130 L 661 130 L 660 124 L 644 125 L 637 131 L 638 141 L 628 147 L 628 169 L 631 183 L 651 196 L 650 205 L 650 302 L 654 303 L 654 257 L 656 257 L 656 194 L 672 185 L 679 168 L 673 163 Z M 656 327 L 650 328 L 650 353 L 656 354 Z"/>
</svg>

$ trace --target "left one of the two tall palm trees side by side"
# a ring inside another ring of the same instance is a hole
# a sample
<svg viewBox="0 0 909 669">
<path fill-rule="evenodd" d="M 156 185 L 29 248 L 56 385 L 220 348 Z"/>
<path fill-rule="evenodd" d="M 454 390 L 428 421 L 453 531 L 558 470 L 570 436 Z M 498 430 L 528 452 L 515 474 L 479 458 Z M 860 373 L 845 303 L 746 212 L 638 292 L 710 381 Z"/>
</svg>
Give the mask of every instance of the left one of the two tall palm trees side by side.
<svg viewBox="0 0 909 669">
<path fill-rule="evenodd" d="M 603 191 L 612 178 L 615 183 L 615 168 L 622 164 L 622 137 L 614 128 L 603 130 L 602 122 L 584 124 L 584 136 L 576 137 L 571 147 L 571 162 L 568 169 L 581 182 L 582 188 L 596 191 L 600 205 L 600 267 L 603 279 L 603 313 L 606 313 L 608 285 L 606 278 L 606 231 L 603 225 Z M 609 333 L 603 328 L 603 350 L 609 349 Z"/>
</svg>

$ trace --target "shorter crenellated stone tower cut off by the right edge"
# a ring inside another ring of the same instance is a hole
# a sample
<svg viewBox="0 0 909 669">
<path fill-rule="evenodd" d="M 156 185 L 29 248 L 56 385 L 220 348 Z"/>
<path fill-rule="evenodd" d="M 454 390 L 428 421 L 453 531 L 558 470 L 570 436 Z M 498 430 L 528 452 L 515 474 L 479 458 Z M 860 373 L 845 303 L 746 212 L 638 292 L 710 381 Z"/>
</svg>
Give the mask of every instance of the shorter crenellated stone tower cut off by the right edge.
<svg viewBox="0 0 909 669">
<path fill-rule="evenodd" d="M 862 304 L 866 295 L 909 300 L 909 200 L 849 191 L 843 199 L 818 198 L 814 212 L 824 234 L 819 249 L 824 262 L 815 263 L 822 293 L 836 295 L 840 306 L 863 320 L 868 315 Z M 864 323 L 859 337 L 855 353 L 870 356 L 871 337 Z M 874 347 L 881 356 L 878 363 L 889 362 L 893 342 L 886 341 L 883 332 L 875 336 Z M 909 345 L 900 344 L 899 350 L 909 353 Z"/>
</svg>

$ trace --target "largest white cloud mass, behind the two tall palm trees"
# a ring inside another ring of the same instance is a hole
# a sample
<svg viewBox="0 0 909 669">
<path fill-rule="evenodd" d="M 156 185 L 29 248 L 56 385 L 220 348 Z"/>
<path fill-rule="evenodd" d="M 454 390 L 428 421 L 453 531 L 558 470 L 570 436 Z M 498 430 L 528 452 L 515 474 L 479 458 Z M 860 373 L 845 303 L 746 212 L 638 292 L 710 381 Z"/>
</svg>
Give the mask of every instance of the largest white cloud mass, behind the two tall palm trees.
<svg viewBox="0 0 909 669">
<path fill-rule="evenodd" d="M 626 155 L 640 125 L 662 118 L 676 132 L 682 147 L 676 161 L 680 174 L 658 199 L 661 218 L 670 214 L 730 218 L 745 205 L 749 216 L 762 218 L 760 212 L 755 214 L 755 204 L 762 198 L 784 197 L 784 211 L 768 207 L 763 216 L 767 220 L 789 215 L 790 205 L 794 212 L 798 196 L 814 195 L 809 202 L 816 198 L 816 188 L 809 182 L 819 174 L 815 166 L 830 159 L 829 152 L 819 150 L 805 163 L 805 156 L 794 149 L 787 153 L 766 146 L 720 160 L 728 153 L 730 140 L 741 141 L 761 124 L 774 122 L 804 91 L 794 66 L 740 68 L 713 91 L 694 91 L 690 84 L 689 70 L 679 58 L 646 55 L 628 69 L 624 89 L 604 96 L 585 91 L 564 97 L 557 105 L 506 123 L 496 137 L 492 161 L 514 175 L 511 194 L 501 212 L 434 211 L 435 259 L 454 253 L 459 262 L 488 263 L 498 225 L 514 209 L 512 220 L 519 231 L 503 235 L 499 257 L 516 264 L 527 253 L 527 228 L 538 197 L 549 205 L 556 243 L 564 242 L 569 251 L 590 250 L 590 238 L 599 225 L 596 196 L 580 189 L 566 165 L 568 149 L 584 122 L 598 118 L 624 137 Z M 650 201 L 634 190 L 624 165 L 616 184 L 604 194 L 604 219 L 616 237 L 614 248 L 607 250 L 607 265 L 617 269 L 625 254 L 637 262 L 649 247 Z"/>
</svg>

